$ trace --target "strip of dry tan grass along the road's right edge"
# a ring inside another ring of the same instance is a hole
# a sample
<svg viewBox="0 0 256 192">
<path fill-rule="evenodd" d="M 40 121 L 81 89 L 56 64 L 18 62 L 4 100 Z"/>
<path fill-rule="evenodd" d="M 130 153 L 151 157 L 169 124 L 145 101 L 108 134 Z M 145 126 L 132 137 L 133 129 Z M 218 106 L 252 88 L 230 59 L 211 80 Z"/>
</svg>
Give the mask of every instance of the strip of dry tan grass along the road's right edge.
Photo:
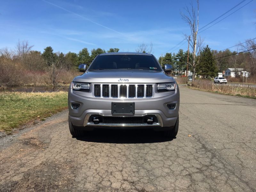
<svg viewBox="0 0 256 192">
<path fill-rule="evenodd" d="M 243 96 L 256 99 L 256 88 L 252 87 L 212 84 L 212 82 L 209 81 L 196 81 L 194 84 L 192 84 L 192 87 L 204 91 L 218 92 L 222 94 Z"/>
</svg>

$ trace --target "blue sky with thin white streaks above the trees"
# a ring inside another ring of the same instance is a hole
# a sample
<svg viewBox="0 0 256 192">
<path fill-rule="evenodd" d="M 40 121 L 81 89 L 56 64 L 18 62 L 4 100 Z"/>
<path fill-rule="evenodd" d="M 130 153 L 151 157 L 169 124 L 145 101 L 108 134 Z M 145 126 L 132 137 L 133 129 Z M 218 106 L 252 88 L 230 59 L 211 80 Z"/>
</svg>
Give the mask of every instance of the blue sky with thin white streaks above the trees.
<svg viewBox="0 0 256 192">
<path fill-rule="evenodd" d="M 241 1 L 200 0 L 199 28 Z M 250 1 L 245 0 L 231 12 Z M 28 40 L 34 50 L 41 52 L 47 46 L 63 53 L 78 53 L 84 47 L 88 50 L 100 47 L 106 51 L 112 47 L 134 52 L 138 44 L 144 42 L 153 44 L 153 54 L 158 58 L 184 39 L 184 34 L 189 34 L 190 29 L 181 19 L 180 11 L 184 12 L 183 8 L 190 2 L 2 0 L 0 48 L 14 49 L 20 39 Z M 205 45 L 222 50 L 255 38 L 255 22 L 256 1 L 253 0 L 200 36 Z M 187 46 L 185 43 L 180 48 L 186 50 Z"/>
</svg>

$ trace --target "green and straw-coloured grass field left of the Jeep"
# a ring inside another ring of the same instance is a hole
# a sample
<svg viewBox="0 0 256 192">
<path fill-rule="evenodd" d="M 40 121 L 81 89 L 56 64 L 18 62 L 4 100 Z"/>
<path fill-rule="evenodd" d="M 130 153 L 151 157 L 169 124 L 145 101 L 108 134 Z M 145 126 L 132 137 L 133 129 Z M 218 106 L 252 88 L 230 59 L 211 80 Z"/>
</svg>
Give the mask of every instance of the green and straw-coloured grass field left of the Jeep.
<svg viewBox="0 0 256 192">
<path fill-rule="evenodd" d="M 68 92 L 0 92 L 0 131 L 45 117 L 68 107 Z"/>
</svg>

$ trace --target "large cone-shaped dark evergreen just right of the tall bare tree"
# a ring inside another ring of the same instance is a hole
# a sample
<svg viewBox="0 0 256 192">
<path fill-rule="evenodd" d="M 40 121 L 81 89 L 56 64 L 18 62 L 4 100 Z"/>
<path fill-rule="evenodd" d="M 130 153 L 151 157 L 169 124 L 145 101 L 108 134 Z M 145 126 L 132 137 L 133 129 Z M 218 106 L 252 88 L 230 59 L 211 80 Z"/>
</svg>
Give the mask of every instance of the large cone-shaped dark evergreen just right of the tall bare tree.
<svg viewBox="0 0 256 192">
<path fill-rule="evenodd" d="M 216 62 L 208 45 L 206 45 L 200 52 L 200 60 L 196 66 L 196 72 L 198 75 L 203 76 L 203 78 L 206 76 L 213 77 L 218 72 Z"/>
</svg>

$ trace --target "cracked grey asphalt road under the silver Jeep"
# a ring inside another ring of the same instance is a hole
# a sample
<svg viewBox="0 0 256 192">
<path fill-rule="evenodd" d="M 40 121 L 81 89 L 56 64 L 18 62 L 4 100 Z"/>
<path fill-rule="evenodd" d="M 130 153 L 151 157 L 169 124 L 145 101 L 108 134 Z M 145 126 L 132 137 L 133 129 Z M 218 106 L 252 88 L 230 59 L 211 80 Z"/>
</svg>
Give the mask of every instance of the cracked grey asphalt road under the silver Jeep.
<svg viewBox="0 0 256 192">
<path fill-rule="evenodd" d="M 1 138 L 0 191 L 256 191 L 256 100 L 183 87 L 180 97 L 173 140 L 148 130 L 75 139 L 68 111 Z"/>
</svg>

